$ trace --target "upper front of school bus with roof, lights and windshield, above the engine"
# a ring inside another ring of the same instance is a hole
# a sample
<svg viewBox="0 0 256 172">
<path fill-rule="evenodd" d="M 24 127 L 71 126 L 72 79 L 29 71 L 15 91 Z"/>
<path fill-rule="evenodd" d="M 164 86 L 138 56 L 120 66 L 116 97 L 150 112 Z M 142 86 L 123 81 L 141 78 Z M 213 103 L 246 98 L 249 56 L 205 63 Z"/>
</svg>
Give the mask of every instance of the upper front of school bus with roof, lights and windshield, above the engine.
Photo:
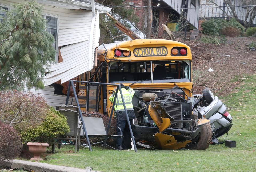
<svg viewBox="0 0 256 172">
<path fill-rule="evenodd" d="M 183 88 L 178 93 L 192 96 L 190 48 L 180 42 L 161 39 L 137 39 L 105 45 L 107 55 L 99 61 L 106 61 L 106 83 L 123 83 L 133 89 L 155 91 Z M 100 46 L 98 54 L 104 54 Z M 132 84 L 132 85 L 131 85 Z M 107 104 L 115 88 L 107 86 Z M 177 94 L 178 94 L 177 93 Z M 107 110 L 110 107 L 107 106 Z"/>
</svg>

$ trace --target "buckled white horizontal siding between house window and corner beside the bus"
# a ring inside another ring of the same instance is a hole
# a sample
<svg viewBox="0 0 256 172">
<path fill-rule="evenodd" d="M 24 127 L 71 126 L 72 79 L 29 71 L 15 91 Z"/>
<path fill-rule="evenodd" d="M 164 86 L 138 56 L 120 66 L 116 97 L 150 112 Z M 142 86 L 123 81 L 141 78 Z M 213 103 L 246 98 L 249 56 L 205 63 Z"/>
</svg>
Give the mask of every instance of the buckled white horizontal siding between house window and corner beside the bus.
<svg viewBox="0 0 256 172">
<path fill-rule="evenodd" d="M 76 12 L 76 11 L 75 11 Z M 86 71 L 90 71 L 93 68 L 94 62 L 94 49 L 99 42 L 99 12 L 97 11 L 96 20 L 94 21 L 94 32 L 93 32 L 93 48 L 92 55 L 89 57 L 89 36 L 91 29 L 91 11 L 80 11 L 79 17 L 85 16 L 87 20 L 76 20 L 76 14 L 69 14 L 74 23 L 66 22 L 67 18 L 63 15 L 60 16 L 62 23 L 59 26 L 61 39 L 58 44 L 59 46 L 67 45 L 60 48 L 63 62 L 52 65 L 50 70 L 51 73 L 46 75 L 45 85 L 50 85 L 61 78 L 61 83 L 68 81 L 70 78 L 74 78 Z M 78 18 L 79 19 L 79 18 Z M 75 33 L 73 33 L 75 32 Z M 97 34 L 96 34 L 97 33 Z M 66 36 L 65 36 L 66 35 Z M 74 36 L 72 36 L 74 35 Z M 74 44 L 69 44 L 71 41 Z M 67 50 L 70 50 L 68 53 Z"/>
</svg>

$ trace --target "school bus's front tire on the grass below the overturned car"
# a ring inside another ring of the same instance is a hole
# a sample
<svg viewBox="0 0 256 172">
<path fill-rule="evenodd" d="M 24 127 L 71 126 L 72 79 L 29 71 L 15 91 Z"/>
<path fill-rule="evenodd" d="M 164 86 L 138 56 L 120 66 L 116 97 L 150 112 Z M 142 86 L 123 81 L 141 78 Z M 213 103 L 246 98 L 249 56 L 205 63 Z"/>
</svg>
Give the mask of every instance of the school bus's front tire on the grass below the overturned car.
<svg viewBox="0 0 256 172">
<path fill-rule="evenodd" d="M 205 150 L 209 147 L 213 133 L 211 131 L 210 123 L 204 124 L 198 136 L 192 140 L 191 145 L 187 146 L 188 149 Z"/>
</svg>

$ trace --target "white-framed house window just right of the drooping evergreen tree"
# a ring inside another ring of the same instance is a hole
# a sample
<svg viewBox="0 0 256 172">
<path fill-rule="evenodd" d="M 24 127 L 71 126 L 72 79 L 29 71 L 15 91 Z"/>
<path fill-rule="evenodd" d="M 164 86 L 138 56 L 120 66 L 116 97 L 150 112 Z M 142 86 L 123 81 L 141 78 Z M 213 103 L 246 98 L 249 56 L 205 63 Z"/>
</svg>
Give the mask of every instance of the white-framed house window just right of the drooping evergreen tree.
<svg viewBox="0 0 256 172">
<path fill-rule="evenodd" d="M 48 15 L 45 14 L 43 15 L 43 18 L 47 20 L 46 23 L 46 30 L 48 33 L 53 35 L 54 37 L 54 43 L 53 47 L 56 50 L 56 62 L 58 61 L 58 54 L 59 54 L 59 49 L 58 49 L 58 26 L 59 26 L 59 18 L 58 16 L 53 16 L 53 15 Z"/>
</svg>

